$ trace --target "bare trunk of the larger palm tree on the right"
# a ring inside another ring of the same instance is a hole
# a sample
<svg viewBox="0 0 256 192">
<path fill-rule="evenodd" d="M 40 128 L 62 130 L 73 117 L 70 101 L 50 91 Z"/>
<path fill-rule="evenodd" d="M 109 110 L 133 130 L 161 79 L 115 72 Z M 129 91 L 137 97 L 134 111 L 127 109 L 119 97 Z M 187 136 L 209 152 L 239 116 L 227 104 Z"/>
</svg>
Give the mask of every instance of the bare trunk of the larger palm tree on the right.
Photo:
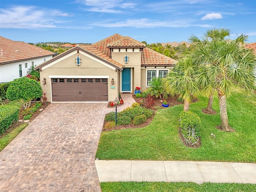
<svg viewBox="0 0 256 192">
<path fill-rule="evenodd" d="M 226 96 L 218 92 L 219 96 L 219 105 L 220 105 L 220 120 L 221 128 L 223 131 L 230 131 L 230 126 L 228 125 L 228 113 L 226 106 Z"/>
</svg>

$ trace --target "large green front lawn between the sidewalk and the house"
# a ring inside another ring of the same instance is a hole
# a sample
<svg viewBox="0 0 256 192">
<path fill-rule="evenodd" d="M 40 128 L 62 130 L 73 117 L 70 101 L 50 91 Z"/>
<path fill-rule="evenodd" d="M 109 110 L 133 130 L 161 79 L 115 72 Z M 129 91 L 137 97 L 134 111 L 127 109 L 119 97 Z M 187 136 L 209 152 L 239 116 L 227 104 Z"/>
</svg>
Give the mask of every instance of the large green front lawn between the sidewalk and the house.
<svg viewBox="0 0 256 192">
<path fill-rule="evenodd" d="M 218 98 L 216 115 L 204 114 L 208 98 L 190 105 L 202 121 L 200 148 L 184 146 L 178 134 L 178 114 L 183 105 L 158 110 L 145 128 L 102 132 L 96 158 L 100 160 L 191 160 L 256 163 L 256 94 L 244 95 L 236 88 L 227 99 L 229 124 L 235 132 L 223 132 L 220 125 Z M 216 136 L 212 138 L 211 133 Z"/>
</svg>

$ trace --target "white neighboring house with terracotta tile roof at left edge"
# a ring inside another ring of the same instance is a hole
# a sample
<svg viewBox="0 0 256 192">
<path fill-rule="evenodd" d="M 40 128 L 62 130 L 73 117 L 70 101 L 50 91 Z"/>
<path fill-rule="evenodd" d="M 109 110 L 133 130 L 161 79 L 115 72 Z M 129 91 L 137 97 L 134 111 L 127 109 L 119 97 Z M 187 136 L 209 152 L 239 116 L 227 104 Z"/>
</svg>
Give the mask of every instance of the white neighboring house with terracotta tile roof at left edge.
<svg viewBox="0 0 256 192">
<path fill-rule="evenodd" d="M 0 83 L 26 76 L 31 66 L 49 60 L 54 54 L 34 45 L 0 36 Z"/>
</svg>

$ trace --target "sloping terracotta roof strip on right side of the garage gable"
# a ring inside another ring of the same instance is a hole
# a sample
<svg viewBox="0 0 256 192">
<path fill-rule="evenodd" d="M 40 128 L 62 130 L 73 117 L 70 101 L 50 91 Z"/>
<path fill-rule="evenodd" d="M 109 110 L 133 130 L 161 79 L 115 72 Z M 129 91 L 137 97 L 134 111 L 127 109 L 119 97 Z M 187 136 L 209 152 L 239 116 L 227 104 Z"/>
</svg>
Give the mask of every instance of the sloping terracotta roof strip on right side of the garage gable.
<svg viewBox="0 0 256 192">
<path fill-rule="evenodd" d="M 106 53 L 98 50 L 97 48 L 95 48 L 94 46 L 92 45 L 89 45 L 89 44 L 79 44 L 77 45 L 81 48 L 83 48 L 84 50 L 87 50 L 88 52 L 96 55 L 96 56 L 99 56 L 101 58 L 103 58 L 104 60 L 107 60 L 108 62 L 114 64 L 115 66 L 118 66 L 119 68 L 122 68 L 123 65 L 120 64 L 119 62 L 116 62 L 115 60 L 112 60 L 112 58 L 110 58 L 110 56 L 108 56 Z"/>
</svg>

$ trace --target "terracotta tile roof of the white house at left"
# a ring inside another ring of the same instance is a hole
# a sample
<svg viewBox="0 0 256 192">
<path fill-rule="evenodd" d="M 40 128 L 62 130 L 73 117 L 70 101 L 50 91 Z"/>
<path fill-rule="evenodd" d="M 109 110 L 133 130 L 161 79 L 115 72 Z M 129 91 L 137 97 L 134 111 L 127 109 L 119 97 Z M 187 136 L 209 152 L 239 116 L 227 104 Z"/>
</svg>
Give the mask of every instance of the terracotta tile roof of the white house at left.
<svg viewBox="0 0 256 192">
<path fill-rule="evenodd" d="M 54 55 L 37 46 L 0 36 L 0 64 Z"/>
</svg>

